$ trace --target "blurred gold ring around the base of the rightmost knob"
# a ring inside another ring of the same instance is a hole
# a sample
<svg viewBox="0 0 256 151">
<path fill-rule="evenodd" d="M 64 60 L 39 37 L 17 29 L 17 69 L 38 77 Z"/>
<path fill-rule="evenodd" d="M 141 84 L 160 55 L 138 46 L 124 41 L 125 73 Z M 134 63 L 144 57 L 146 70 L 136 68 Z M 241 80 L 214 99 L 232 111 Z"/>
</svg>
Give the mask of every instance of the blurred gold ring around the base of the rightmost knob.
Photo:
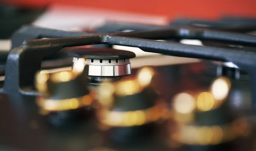
<svg viewBox="0 0 256 151">
<path fill-rule="evenodd" d="M 236 139 L 248 131 L 247 123 L 245 126 L 239 125 L 237 124 L 239 120 L 227 125 L 182 125 L 177 133 L 172 134 L 172 138 L 189 145 L 216 145 Z"/>
</svg>

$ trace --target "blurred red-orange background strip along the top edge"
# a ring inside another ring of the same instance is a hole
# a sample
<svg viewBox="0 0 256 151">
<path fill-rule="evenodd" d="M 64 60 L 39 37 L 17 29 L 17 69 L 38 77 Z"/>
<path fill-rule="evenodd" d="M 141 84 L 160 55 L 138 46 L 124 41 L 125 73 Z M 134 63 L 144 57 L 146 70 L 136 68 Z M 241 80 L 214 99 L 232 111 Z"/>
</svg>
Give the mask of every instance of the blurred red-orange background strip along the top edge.
<svg viewBox="0 0 256 151">
<path fill-rule="evenodd" d="M 173 17 L 215 19 L 221 15 L 256 17 L 256 0 L 6 0 L 28 7 L 50 3 Z"/>
</svg>

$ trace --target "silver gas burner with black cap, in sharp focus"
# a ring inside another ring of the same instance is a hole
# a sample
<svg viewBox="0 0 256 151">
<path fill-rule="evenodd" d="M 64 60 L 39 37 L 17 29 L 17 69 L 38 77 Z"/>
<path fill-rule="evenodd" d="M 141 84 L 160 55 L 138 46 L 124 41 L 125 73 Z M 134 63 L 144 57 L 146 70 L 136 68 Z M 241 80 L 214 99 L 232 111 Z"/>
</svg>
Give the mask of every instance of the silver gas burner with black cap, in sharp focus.
<svg viewBox="0 0 256 151">
<path fill-rule="evenodd" d="M 75 48 L 68 51 L 73 58 L 73 70 L 88 66 L 88 76 L 96 81 L 108 81 L 131 74 L 133 52 L 110 48 Z M 81 64 L 81 65 L 80 65 Z"/>
</svg>

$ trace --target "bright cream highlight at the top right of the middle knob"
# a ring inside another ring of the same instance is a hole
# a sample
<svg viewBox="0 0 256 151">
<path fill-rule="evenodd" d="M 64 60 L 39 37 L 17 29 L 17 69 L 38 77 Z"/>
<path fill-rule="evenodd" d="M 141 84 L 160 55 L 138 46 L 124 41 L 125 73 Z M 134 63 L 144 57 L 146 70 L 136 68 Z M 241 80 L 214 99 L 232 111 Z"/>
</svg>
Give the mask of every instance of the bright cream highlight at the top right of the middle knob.
<svg viewBox="0 0 256 151">
<path fill-rule="evenodd" d="M 151 79 L 154 75 L 154 70 L 151 67 L 143 67 L 138 75 L 137 75 L 137 79 L 139 81 L 139 83 L 143 86 L 147 86 L 151 83 Z"/>
</svg>

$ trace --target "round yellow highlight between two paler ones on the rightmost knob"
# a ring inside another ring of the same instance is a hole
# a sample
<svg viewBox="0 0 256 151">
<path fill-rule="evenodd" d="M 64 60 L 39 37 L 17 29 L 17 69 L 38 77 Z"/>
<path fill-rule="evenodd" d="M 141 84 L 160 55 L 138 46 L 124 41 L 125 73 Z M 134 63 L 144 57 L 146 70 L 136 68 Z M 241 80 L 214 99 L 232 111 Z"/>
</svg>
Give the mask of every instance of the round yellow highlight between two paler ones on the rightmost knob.
<svg viewBox="0 0 256 151">
<path fill-rule="evenodd" d="M 211 110 L 214 105 L 214 98 L 209 92 L 202 92 L 197 99 L 197 107 L 201 111 Z"/>
</svg>

